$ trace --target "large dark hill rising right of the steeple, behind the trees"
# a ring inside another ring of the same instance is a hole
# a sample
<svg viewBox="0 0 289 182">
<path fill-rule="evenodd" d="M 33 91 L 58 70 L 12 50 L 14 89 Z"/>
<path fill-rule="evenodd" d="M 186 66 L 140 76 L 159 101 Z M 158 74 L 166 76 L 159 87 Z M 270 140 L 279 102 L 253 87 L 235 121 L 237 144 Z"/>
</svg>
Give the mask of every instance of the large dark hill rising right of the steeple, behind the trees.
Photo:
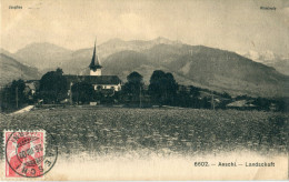
<svg viewBox="0 0 289 182">
<path fill-rule="evenodd" d="M 138 71 L 149 83 L 155 70 L 172 72 L 180 84 L 230 94 L 285 97 L 288 77 L 235 52 L 192 46 L 158 44 L 142 52 L 121 51 L 103 61 L 103 73 L 126 80 Z"/>
</svg>

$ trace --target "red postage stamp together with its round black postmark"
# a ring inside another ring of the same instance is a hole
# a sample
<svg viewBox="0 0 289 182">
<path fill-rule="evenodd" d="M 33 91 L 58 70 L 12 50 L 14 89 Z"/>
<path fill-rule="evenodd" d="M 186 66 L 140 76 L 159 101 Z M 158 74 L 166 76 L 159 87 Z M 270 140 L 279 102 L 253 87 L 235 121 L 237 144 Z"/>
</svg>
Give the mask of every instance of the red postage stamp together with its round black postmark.
<svg viewBox="0 0 289 182">
<path fill-rule="evenodd" d="M 51 141 L 44 130 L 4 131 L 6 178 L 43 178 L 57 161 L 58 149 Z"/>
</svg>

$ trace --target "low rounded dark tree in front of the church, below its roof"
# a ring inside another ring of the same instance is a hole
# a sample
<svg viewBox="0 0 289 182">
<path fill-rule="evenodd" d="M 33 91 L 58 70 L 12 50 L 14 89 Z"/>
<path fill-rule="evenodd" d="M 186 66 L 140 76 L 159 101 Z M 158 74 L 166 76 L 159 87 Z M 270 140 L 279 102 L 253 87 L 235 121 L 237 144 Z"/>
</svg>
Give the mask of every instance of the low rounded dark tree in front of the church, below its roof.
<svg viewBox="0 0 289 182">
<path fill-rule="evenodd" d="M 78 82 L 74 83 L 71 87 L 72 91 L 72 101 L 73 102 L 81 102 L 81 103 L 87 103 L 93 99 L 94 94 L 94 89 L 92 84 L 89 84 L 87 82 Z"/>
</svg>

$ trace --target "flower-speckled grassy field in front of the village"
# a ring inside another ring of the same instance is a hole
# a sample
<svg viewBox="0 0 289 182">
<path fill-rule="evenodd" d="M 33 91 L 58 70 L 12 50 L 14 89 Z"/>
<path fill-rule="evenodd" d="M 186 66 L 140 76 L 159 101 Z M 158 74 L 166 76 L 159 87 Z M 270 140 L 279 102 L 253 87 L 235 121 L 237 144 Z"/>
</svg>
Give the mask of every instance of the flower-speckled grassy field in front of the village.
<svg viewBox="0 0 289 182">
<path fill-rule="evenodd" d="M 59 153 L 287 152 L 288 114 L 236 110 L 63 108 L 1 115 L 3 130 L 42 128 Z M 2 140 L 2 138 L 1 138 Z M 3 142 L 3 141 L 1 141 Z M 3 152 L 3 145 L 1 152 Z M 0 156 L 3 156 L 2 153 Z"/>
</svg>

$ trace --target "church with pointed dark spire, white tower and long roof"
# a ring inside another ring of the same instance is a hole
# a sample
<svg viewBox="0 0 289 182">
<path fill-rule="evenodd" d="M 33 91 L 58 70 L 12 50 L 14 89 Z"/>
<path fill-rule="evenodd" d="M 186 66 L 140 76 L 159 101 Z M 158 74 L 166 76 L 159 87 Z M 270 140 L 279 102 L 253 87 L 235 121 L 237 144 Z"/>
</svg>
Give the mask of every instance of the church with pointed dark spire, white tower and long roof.
<svg viewBox="0 0 289 182">
<path fill-rule="evenodd" d="M 64 75 L 68 81 L 68 85 L 71 88 L 74 83 L 87 82 L 92 84 L 97 91 L 120 91 L 121 80 L 118 75 L 102 75 L 101 65 L 97 54 L 97 46 L 94 42 L 94 49 L 91 62 L 89 64 L 90 74 L 89 75 Z M 70 89 L 69 89 L 70 90 Z"/>
</svg>

